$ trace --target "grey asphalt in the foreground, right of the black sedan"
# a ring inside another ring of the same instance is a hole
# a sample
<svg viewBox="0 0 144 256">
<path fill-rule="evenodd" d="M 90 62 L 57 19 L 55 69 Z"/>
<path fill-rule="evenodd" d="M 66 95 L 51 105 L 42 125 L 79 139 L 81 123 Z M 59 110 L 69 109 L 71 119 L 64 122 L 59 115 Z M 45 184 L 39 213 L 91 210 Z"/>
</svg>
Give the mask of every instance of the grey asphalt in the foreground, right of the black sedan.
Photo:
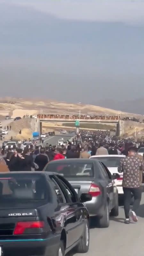
<svg viewBox="0 0 144 256">
<path fill-rule="evenodd" d="M 137 223 L 124 224 L 124 207 L 119 206 L 119 216 L 111 217 L 109 228 L 91 228 L 90 248 L 84 256 L 143 256 L 144 193 L 137 216 Z M 82 256 L 82 254 L 71 252 L 67 256 Z"/>
</svg>

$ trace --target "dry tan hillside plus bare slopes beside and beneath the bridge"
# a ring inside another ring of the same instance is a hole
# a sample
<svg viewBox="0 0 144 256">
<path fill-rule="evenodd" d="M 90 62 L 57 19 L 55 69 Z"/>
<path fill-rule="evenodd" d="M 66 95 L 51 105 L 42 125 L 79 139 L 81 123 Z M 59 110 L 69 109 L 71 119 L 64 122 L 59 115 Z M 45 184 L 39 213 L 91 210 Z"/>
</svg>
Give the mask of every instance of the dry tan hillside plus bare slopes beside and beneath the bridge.
<svg viewBox="0 0 144 256">
<path fill-rule="evenodd" d="M 108 108 L 102 108 L 99 106 L 93 106 L 93 105 L 84 105 L 82 103 L 66 103 L 66 102 L 56 102 L 51 100 L 29 100 L 29 99 L 14 99 L 14 98 L 6 98 L 6 99 L 0 99 L 0 120 L 3 120 L 6 115 L 10 115 L 12 118 L 15 118 L 17 116 L 23 117 L 24 115 L 28 114 L 30 115 L 37 115 L 39 113 L 43 114 L 77 114 L 79 115 L 79 111 L 81 114 L 84 115 L 121 115 L 122 117 L 129 117 L 131 116 L 131 119 L 133 117 L 140 119 L 142 122 L 144 119 L 144 116 L 132 114 L 132 113 L 125 113 L 116 111 L 113 109 Z M 28 119 L 21 119 L 16 122 L 11 123 L 12 131 L 14 134 L 17 134 L 16 137 L 18 139 L 23 138 L 30 138 L 32 135 L 32 132 L 34 131 L 32 127 L 32 120 Z M 49 124 L 43 124 L 43 132 L 49 132 L 52 130 L 58 130 L 59 128 L 63 129 L 74 129 L 73 125 L 69 124 L 69 127 L 64 125 L 64 123 L 49 123 Z M 83 127 L 86 128 L 86 127 Z M 88 128 L 94 128 L 94 127 L 88 127 Z M 22 134 L 19 135 L 19 130 L 22 130 Z M 108 129 L 106 128 L 96 128 L 96 129 Z M 94 130 L 96 130 L 94 129 Z M 110 129 L 110 128 L 109 128 Z M 131 122 L 126 121 L 124 122 L 123 127 L 123 134 L 125 136 L 132 136 L 136 133 L 141 136 L 143 134 L 144 125 L 137 123 L 137 122 Z"/>
</svg>

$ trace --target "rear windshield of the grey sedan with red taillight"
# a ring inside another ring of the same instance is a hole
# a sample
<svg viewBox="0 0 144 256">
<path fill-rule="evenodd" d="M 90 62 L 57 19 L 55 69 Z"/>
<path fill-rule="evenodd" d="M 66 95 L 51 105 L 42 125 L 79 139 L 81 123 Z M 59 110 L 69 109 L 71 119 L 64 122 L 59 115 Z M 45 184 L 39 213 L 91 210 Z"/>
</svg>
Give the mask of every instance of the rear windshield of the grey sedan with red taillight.
<svg viewBox="0 0 144 256">
<path fill-rule="evenodd" d="M 58 172 L 63 176 L 94 176 L 93 163 L 52 163 L 46 167 L 46 172 Z"/>
</svg>

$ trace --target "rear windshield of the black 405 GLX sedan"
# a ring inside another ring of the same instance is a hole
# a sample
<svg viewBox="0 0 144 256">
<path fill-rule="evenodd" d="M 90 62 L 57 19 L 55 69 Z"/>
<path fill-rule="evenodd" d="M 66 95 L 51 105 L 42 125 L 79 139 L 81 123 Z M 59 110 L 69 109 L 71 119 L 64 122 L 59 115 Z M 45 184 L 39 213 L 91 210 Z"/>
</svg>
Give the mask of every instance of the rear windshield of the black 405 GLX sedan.
<svg viewBox="0 0 144 256">
<path fill-rule="evenodd" d="M 47 183 L 42 174 L 0 174 L 0 206 L 47 199 Z"/>
</svg>

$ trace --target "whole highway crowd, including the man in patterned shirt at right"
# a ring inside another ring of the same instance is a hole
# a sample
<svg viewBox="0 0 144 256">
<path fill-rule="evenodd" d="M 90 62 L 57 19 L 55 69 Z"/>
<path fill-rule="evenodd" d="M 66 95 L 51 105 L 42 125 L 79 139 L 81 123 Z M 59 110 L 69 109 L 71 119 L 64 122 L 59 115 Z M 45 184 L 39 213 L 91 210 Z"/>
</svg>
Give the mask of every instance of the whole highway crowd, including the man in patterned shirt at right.
<svg viewBox="0 0 144 256">
<path fill-rule="evenodd" d="M 19 141 L 20 144 L 20 141 Z M 118 167 L 123 172 L 124 212 L 125 223 L 130 223 L 130 216 L 137 221 L 135 211 L 141 200 L 141 183 L 143 171 L 143 156 L 138 149 L 144 147 L 144 141 L 133 138 L 122 139 L 110 136 L 106 131 L 82 131 L 72 140 L 64 141 L 63 145 L 49 145 L 43 147 L 35 143 L 21 147 L 8 148 L 2 162 L 8 171 L 43 171 L 49 161 L 65 158 L 90 158 L 94 155 L 125 155 Z M 134 195 L 133 210 L 130 212 L 131 194 Z"/>
</svg>

